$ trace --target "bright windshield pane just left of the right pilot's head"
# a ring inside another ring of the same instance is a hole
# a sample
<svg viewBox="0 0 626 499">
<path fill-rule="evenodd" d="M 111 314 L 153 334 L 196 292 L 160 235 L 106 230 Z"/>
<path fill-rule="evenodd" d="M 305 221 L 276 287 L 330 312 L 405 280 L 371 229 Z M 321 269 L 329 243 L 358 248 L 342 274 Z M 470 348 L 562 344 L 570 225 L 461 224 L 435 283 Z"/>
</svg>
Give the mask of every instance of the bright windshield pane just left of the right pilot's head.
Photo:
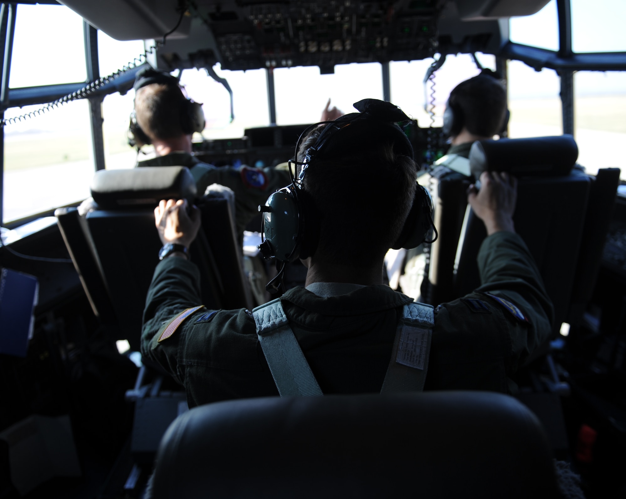
<svg viewBox="0 0 626 499">
<path fill-rule="evenodd" d="M 438 57 L 436 55 L 436 57 Z M 484 68 L 496 69 L 496 60 L 489 54 L 476 54 Z M 417 119 L 419 126 L 431 125 L 429 114 L 424 110 L 424 75 L 433 59 L 422 61 L 394 61 L 389 63 L 391 78 L 391 102 L 411 118 Z M 476 76 L 480 69 L 469 54 L 449 55 L 446 62 L 434 74 L 434 126 L 443 124 L 443 111 L 452 89 L 461 81 Z M 426 101 L 431 103 L 431 83 L 426 84 Z"/>
</svg>

